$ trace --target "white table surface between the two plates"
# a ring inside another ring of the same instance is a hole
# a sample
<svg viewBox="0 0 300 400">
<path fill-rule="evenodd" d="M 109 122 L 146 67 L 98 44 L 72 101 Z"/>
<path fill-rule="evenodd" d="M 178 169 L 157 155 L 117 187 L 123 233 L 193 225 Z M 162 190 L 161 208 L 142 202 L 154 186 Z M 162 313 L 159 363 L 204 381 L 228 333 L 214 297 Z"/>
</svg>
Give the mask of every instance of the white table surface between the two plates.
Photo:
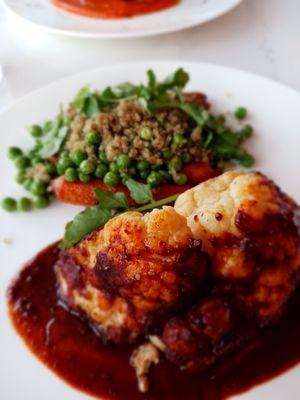
<svg viewBox="0 0 300 400">
<path fill-rule="evenodd" d="M 229 14 L 178 33 L 88 40 L 45 33 L 6 15 L 0 6 L 0 64 L 10 94 L 4 99 L 5 90 L 0 92 L 0 100 L 12 101 L 86 69 L 146 59 L 223 64 L 300 90 L 299 16 L 300 0 L 244 0 Z"/>
</svg>

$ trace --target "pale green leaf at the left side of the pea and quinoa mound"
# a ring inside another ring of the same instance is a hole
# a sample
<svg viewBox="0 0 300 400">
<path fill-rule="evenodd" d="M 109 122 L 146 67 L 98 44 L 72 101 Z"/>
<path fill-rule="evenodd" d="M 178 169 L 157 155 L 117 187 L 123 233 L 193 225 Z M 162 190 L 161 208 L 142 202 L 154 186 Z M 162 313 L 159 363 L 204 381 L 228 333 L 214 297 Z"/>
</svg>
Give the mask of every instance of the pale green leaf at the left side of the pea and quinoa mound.
<svg viewBox="0 0 300 400">
<path fill-rule="evenodd" d="M 67 134 L 69 132 L 68 126 L 62 126 L 63 115 L 62 113 L 55 119 L 53 126 L 49 132 L 44 135 L 40 140 L 40 149 L 38 155 L 43 159 L 48 159 L 54 156 L 61 149 Z"/>
</svg>

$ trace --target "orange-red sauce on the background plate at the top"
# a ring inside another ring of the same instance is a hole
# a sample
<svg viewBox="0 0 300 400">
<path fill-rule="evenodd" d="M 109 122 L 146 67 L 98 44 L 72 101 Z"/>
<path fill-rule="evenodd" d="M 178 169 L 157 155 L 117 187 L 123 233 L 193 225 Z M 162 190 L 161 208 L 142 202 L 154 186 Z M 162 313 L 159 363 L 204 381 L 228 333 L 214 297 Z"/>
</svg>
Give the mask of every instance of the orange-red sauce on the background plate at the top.
<svg viewBox="0 0 300 400">
<path fill-rule="evenodd" d="M 53 4 L 75 14 L 92 18 L 126 18 L 163 10 L 179 0 L 52 0 Z"/>
</svg>

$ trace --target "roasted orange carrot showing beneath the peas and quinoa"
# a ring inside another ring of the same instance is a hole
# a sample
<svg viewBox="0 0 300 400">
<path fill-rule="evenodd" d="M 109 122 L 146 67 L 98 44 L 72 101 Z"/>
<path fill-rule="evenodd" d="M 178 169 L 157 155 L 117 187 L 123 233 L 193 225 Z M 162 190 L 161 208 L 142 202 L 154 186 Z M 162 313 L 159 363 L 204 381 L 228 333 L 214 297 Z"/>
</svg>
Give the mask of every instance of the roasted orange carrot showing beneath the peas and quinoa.
<svg viewBox="0 0 300 400">
<path fill-rule="evenodd" d="M 209 178 L 218 175 L 218 171 L 213 169 L 207 163 L 197 162 L 186 165 L 183 172 L 188 177 L 188 185 L 178 186 L 175 184 L 165 184 L 160 188 L 153 190 L 155 200 L 163 199 L 164 197 L 172 196 L 173 194 L 183 193 L 191 186 L 201 183 Z M 53 184 L 53 191 L 58 200 L 83 205 L 92 206 L 97 203 L 94 189 L 101 187 L 111 192 L 123 192 L 128 194 L 128 190 L 124 186 L 111 187 L 103 183 L 101 179 L 93 182 L 67 182 L 63 177 L 57 178 Z M 133 205 L 133 203 L 131 204 Z"/>
</svg>

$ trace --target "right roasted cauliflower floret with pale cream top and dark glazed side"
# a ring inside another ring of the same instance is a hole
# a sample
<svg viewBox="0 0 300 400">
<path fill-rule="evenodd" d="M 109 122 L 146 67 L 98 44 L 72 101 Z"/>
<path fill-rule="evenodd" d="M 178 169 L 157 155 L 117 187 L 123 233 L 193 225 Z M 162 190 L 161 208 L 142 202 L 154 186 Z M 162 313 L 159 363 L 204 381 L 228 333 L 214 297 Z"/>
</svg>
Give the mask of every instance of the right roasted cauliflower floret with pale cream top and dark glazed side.
<svg viewBox="0 0 300 400">
<path fill-rule="evenodd" d="M 175 209 L 224 288 L 261 322 L 277 318 L 300 267 L 294 201 L 265 176 L 234 171 L 180 195 Z"/>
</svg>

